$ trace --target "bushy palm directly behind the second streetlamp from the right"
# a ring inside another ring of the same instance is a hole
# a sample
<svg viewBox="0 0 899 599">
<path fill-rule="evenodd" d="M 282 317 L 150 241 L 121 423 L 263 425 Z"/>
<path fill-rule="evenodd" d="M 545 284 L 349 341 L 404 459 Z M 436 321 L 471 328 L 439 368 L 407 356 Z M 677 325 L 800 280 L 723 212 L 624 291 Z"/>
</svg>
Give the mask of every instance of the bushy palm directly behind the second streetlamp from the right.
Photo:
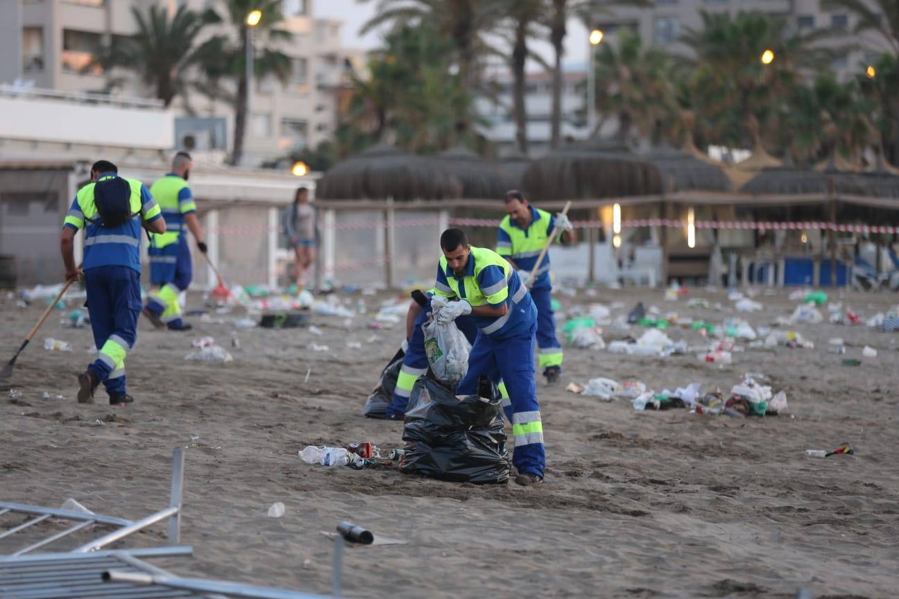
<svg viewBox="0 0 899 599">
<path fill-rule="evenodd" d="M 715 123 L 725 141 L 735 145 L 758 145 L 760 118 L 770 117 L 779 99 L 801 81 L 799 69 L 812 70 L 829 50 L 812 43 L 829 33 L 791 33 L 788 23 L 763 13 L 702 11 L 702 29 L 688 30 L 683 40 L 696 53 L 692 84 L 703 89 L 697 106 Z M 763 64 L 766 50 L 773 61 Z"/>
</svg>

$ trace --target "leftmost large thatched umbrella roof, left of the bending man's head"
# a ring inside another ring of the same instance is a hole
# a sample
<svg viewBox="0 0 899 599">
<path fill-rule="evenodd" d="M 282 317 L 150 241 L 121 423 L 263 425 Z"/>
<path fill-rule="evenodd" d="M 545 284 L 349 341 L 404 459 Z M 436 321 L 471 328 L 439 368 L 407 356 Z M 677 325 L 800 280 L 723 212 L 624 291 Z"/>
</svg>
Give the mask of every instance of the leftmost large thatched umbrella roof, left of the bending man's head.
<svg viewBox="0 0 899 599">
<path fill-rule="evenodd" d="M 459 182 L 437 163 L 388 144 L 372 145 L 334 164 L 316 183 L 316 198 L 324 200 L 434 200 L 459 193 Z"/>
</svg>

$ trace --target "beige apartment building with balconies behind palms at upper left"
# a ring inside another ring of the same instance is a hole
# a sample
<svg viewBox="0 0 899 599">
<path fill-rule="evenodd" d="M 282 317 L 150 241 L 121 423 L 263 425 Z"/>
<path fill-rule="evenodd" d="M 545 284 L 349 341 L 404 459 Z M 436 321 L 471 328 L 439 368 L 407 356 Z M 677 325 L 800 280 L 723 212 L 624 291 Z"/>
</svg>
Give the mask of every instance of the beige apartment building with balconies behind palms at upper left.
<svg viewBox="0 0 899 599">
<path fill-rule="evenodd" d="M 100 68 L 84 73 L 83 68 L 105 41 L 137 31 L 132 7 L 146 11 L 154 4 L 171 12 L 182 4 L 201 11 L 217 0 L 0 0 L 0 83 L 88 97 L 151 98 L 152 91 L 132 73 Z M 334 132 L 335 95 L 360 53 L 341 47 L 342 22 L 316 19 L 314 9 L 314 0 L 283 2 L 282 28 L 293 38 L 280 50 L 290 57 L 292 70 L 286 84 L 254 79 L 246 165 L 315 146 Z M 224 158 L 233 134 L 230 105 L 191 92 L 186 101 L 174 101 L 171 110 L 176 146 Z"/>
</svg>

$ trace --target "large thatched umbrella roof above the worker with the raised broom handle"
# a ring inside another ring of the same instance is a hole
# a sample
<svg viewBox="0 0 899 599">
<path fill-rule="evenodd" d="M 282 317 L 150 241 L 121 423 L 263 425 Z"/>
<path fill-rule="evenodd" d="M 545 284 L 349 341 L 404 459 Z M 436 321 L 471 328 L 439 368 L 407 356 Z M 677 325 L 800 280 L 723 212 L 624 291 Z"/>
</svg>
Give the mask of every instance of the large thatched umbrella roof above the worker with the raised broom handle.
<svg viewBox="0 0 899 599">
<path fill-rule="evenodd" d="M 661 193 L 662 175 L 623 143 L 592 137 L 531 163 L 523 187 L 545 200 L 622 198 Z"/>
</svg>

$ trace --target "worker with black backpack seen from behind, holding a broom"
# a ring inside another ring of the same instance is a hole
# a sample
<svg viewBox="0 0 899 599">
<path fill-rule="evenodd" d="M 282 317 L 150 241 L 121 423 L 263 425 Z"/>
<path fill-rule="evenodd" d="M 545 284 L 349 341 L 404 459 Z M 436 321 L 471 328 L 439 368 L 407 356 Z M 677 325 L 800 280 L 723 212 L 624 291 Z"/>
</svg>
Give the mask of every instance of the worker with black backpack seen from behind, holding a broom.
<svg viewBox="0 0 899 599">
<path fill-rule="evenodd" d="M 116 165 L 93 163 L 91 183 L 80 189 L 63 224 L 60 249 L 66 280 L 84 274 L 97 359 L 78 375 L 78 402 L 93 403 L 103 383 L 110 404 L 134 401 L 125 388 L 125 356 L 138 337 L 140 227 L 165 233 L 156 200 L 140 182 L 118 175 Z M 75 234 L 85 229 L 85 261 L 76 267 Z"/>
</svg>

